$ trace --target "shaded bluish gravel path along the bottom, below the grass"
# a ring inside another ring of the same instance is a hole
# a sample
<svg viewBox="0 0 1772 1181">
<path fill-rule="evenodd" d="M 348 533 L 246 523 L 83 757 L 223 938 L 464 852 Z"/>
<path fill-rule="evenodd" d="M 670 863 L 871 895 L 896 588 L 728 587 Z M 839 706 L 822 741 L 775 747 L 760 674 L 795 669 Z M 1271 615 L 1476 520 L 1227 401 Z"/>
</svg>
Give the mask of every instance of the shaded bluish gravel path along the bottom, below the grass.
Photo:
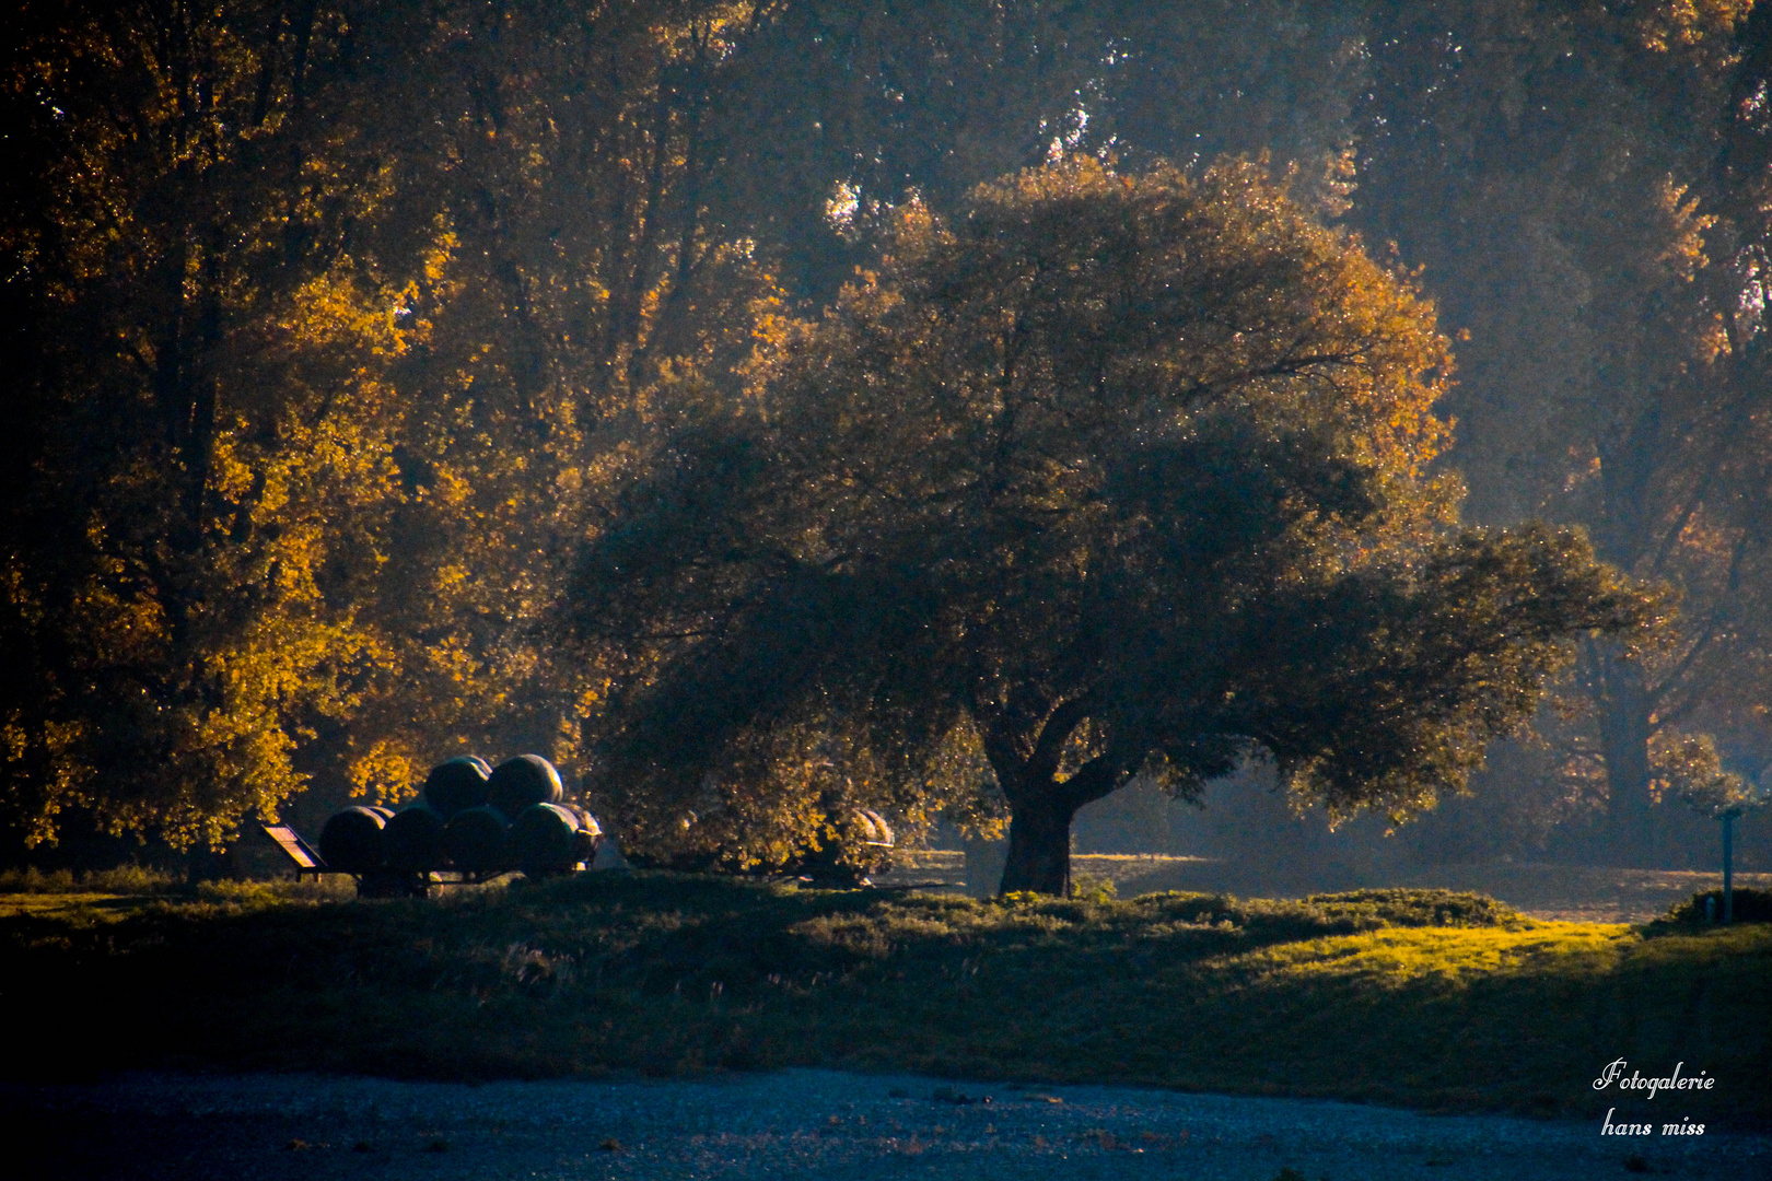
<svg viewBox="0 0 1772 1181">
<path fill-rule="evenodd" d="M 0 1105 L 9 1165 L 25 1165 L 11 1176 L 82 1181 L 1772 1177 L 1768 1135 L 1620 1142 L 1597 1121 L 815 1069 L 486 1085 L 144 1073 L 4 1084 Z"/>
</svg>

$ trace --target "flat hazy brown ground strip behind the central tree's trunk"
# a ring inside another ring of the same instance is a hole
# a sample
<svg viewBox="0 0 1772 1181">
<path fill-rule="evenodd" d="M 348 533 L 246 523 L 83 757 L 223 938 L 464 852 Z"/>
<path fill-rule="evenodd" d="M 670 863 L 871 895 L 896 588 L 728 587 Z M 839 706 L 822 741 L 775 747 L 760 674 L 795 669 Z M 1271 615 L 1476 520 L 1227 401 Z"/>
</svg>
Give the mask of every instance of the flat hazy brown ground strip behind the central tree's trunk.
<svg viewBox="0 0 1772 1181">
<path fill-rule="evenodd" d="M 1079 853 L 1070 859 L 1077 878 L 1106 878 L 1120 898 L 1152 891 L 1203 891 L 1239 898 L 1299 898 L 1333 891 L 1391 885 L 1476 891 L 1499 898 L 1538 919 L 1566 922 L 1648 922 L 1698 891 L 1722 885 L 1721 873 L 1675 869 L 1604 869 L 1527 862 L 1435 866 L 1416 871 L 1329 869 L 1313 875 L 1258 871 L 1209 857 L 1157 853 Z M 900 853 L 891 873 L 875 876 L 881 885 L 934 884 L 968 889 L 962 853 Z M 1735 885 L 1772 889 L 1772 873 L 1737 873 Z"/>
</svg>

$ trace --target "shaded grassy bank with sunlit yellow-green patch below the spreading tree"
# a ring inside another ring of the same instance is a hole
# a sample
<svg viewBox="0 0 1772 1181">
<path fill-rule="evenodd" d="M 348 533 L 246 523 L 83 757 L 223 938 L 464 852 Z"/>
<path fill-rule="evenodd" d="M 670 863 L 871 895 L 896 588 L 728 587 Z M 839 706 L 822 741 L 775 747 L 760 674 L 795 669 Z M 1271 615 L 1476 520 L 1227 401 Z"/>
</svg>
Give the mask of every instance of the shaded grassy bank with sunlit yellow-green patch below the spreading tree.
<svg viewBox="0 0 1772 1181">
<path fill-rule="evenodd" d="M 1719 1078 L 1676 1115 L 1772 1117 L 1761 924 L 1540 922 L 1444 891 L 983 903 L 654 873 L 443 901 L 16 901 L 0 997 L 58 1030 L 14 1054 L 32 1075 L 817 1064 L 1595 1115 L 1620 1098 L 1589 1080 L 1625 1057 Z"/>
</svg>

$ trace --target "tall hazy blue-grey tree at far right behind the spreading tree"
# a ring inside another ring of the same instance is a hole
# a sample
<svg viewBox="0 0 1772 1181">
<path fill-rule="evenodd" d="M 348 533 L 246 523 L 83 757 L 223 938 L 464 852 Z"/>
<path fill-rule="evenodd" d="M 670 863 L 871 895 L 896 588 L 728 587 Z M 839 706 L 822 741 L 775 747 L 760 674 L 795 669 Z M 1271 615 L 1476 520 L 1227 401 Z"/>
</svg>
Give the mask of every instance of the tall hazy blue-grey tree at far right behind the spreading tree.
<svg viewBox="0 0 1772 1181">
<path fill-rule="evenodd" d="M 1744 4 L 1373 5 L 1352 221 L 1467 329 L 1455 460 L 1481 521 L 1577 521 L 1680 597 L 1666 643 L 1591 637 L 1540 731 L 1657 855 L 1689 729 L 1765 742 L 1765 39 Z M 1760 735 L 1753 731 L 1760 729 Z"/>
</svg>

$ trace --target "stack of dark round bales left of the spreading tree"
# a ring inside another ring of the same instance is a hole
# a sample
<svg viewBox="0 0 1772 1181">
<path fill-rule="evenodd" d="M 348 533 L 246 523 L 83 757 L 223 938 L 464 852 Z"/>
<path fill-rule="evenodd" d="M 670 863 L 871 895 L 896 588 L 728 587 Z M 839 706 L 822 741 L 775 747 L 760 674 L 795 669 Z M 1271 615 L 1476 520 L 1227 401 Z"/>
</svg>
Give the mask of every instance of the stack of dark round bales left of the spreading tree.
<svg viewBox="0 0 1772 1181">
<path fill-rule="evenodd" d="M 424 799 L 392 813 L 347 807 L 321 832 L 321 857 L 346 873 L 530 876 L 565 873 L 595 855 L 595 816 L 562 802 L 560 772 L 539 754 L 489 767 L 452 758 L 425 777 Z"/>
</svg>

